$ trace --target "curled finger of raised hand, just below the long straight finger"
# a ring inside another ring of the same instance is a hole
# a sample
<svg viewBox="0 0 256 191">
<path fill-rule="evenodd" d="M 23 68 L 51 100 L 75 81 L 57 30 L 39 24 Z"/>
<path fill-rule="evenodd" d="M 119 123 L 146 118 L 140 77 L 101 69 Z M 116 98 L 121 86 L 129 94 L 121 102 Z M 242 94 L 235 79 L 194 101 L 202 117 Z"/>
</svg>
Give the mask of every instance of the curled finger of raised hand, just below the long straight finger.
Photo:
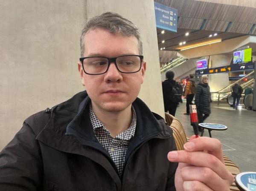
<svg viewBox="0 0 256 191">
<path fill-rule="evenodd" d="M 206 167 L 187 166 L 181 169 L 181 177 L 184 181 L 197 180 L 203 182 L 214 191 L 229 191 L 230 182 L 218 176 L 212 169 Z M 214 181 L 212 181 L 214 180 Z M 216 184 L 216 182 L 218 182 Z"/>
</svg>

